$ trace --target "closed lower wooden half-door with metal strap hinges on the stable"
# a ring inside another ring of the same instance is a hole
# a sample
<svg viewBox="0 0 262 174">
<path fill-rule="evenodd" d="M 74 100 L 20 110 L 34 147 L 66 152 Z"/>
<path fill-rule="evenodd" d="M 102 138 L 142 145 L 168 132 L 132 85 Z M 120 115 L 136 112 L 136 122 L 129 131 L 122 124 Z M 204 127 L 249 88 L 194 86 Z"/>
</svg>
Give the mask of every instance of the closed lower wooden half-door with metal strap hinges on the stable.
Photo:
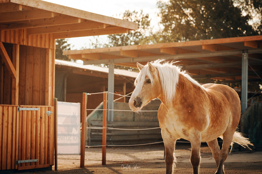
<svg viewBox="0 0 262 174">
<path fill-rule="evenodd" d="M 37 108 L 28 110 L 21 108 Z M 18 160 L 37 162 L 19 163 L 18 170 L 49 167 L 54 164 L 53 106 L 20 106 Z"/>
</svg>

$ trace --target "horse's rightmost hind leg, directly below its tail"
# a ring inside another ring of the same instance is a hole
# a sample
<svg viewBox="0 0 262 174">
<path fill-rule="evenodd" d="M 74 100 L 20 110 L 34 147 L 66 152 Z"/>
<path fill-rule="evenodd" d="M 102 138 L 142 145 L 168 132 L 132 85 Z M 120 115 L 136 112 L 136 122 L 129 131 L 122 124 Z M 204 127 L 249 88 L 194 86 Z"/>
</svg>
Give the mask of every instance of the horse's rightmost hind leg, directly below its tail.
<svg viewBox="0 0 262 174">
<path fill-rule="evenodd" d="M 230 125 L 228 125 L 226 131 L 223 133 L 223 144 L 222 144 L 222 149 L 220 151 L 220 160 L 215 174 L 225 173 L 224 162 L 227 159 L 228 148 L 232 142 L 235 130 L 236 129 L 233 129 Z"/>
</svg>

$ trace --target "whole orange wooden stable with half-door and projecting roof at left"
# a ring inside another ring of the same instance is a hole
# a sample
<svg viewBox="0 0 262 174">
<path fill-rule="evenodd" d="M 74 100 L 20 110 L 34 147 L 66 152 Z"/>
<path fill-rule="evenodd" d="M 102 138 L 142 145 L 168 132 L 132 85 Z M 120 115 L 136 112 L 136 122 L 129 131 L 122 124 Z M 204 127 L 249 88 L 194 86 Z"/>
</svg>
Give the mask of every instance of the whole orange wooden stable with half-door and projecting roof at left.
<svg viewBox="0 0 262 174">
<path fill-rule="evenodd" d="M 0 170 L 54 164 L 55 39 L 133 29 L 45 1 L 0 0 Z"/>
</svg>

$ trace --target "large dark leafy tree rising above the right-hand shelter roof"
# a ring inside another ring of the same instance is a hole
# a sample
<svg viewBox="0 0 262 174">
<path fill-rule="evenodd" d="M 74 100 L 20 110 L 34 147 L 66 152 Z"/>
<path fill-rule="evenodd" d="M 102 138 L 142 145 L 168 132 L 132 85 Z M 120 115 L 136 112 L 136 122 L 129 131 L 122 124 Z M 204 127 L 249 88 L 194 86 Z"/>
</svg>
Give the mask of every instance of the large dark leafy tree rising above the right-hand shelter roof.
<svg viewBox="0 0 262 174">
<path fill-rule="evenodd" d="M 239 0 L 241 1 L 241 0 Z M 248 1 L 248 0 L 247 0 Z M 157 3 L 163 30 L 158 42 L 240 37 L 258 34 L 232 0 L 170 0 Z"/>
</svg>

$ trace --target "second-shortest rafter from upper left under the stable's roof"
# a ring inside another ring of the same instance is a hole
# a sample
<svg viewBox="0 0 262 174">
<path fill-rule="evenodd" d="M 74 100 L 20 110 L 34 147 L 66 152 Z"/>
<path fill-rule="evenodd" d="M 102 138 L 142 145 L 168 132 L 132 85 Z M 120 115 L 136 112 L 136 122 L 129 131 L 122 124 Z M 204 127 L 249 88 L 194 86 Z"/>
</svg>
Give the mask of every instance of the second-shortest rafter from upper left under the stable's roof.
<svg viewBox="0 0 262 174">
<path fill-rule="evenodd" d="M 36 9 L 36 10 L 23 10 L 1 13 L 0 22 L 23 21 L 31 19 L 43 19 L 54 17 L 51 11 Z"/>
</svg>

